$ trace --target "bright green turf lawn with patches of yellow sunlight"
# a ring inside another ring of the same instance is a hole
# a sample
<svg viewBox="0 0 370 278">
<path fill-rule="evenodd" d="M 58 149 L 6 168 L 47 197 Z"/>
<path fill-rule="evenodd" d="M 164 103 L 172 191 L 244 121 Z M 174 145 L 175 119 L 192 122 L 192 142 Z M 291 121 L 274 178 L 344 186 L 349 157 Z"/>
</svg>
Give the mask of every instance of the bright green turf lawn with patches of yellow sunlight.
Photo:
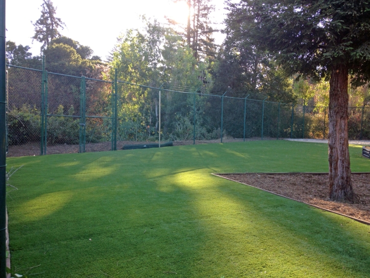
<svg viewBox="0 0 370 278">
<path fill-rule="evenodd" d="M 327 148 L 258 141 L 9 158 L 24 165 L 7 199 L 12 271 L 370 277 L 369 226 L 211 175 L 327 172 Z M 360 148 L 350 152 L 352 171 L 370 170 Z"/>
</svg>

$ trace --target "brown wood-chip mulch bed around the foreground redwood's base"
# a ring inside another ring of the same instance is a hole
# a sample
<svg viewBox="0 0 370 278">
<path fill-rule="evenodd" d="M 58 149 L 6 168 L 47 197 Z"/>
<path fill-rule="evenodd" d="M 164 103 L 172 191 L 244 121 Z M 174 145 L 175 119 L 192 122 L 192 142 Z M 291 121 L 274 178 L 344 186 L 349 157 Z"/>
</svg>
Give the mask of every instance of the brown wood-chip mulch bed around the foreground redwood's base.
<svg viewBox="0 0 370 278">
<path fill-rule="evenodd" d="M 352 173 L 352 186 L 360 198 L 359 203 L 329 200 L 328 174 L 248 173 L 220 174 L 220 176 L 370 222 L 370 173 Z"/>
</svg>

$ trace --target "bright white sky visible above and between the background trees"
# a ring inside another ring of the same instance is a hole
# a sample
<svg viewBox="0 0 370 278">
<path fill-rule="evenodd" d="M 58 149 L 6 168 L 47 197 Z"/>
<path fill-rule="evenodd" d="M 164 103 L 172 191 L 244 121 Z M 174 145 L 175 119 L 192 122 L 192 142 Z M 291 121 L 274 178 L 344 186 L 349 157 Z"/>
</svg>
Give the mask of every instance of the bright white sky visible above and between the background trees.
<svg viewBox="0 0 370 278">
<path fill-rule="evenodd" d="M 184 3 L 173 4 L 171 0 L 52 0 L 57 7 L 57 17 L 66 24 L 60 33 L 88 45 L 94 55 L 103 60 L 109 55 L 117 37 L 127 29 L 140 28 L 140 15 L 157 18 L 165 22 L 164 16 L 186 23 L 187 10 Z M 101 5 L 97 5 L 100 3 Z M 41 15 L 42 0 L 8 0 L 6 3 L 7 40 L 16 44 L 29 45 L 33 55 L 40 53 L 41 44 L 32 42 L 35 22 Z M 222 28 L 225 17 L 224 0 L 212 0 L 215 12 L 214 28 Z M 215 34 L 216 43 L 223 40 L 222 34 Z"/>
</svg>

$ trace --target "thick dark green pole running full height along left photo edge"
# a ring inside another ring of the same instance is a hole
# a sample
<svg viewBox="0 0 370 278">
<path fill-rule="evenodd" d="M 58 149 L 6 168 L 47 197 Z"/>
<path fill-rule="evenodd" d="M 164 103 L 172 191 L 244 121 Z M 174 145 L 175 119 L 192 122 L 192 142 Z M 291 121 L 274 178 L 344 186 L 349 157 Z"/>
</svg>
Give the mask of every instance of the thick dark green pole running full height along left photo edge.
<svg viewBox="0 0 370 278">
<path fill-rule="evenodd" d="M 6 277 L 6 37 L 5 0 L 0 0 L 0 277 Z"/>
</svg>

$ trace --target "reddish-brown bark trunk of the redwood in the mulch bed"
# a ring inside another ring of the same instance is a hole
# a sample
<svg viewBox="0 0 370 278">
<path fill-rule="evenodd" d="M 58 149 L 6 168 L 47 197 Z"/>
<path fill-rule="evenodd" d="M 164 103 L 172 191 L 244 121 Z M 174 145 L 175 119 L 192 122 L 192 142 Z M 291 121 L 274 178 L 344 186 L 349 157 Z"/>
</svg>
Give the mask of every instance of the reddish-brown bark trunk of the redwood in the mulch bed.
<svg viewBox="0 0 370 278">
<path fill-rule="evenodd" d="M 348 67 L 334 65 L 329 92 L 329 198 L 354 201 L 348 150 Z"/>
</svg>

